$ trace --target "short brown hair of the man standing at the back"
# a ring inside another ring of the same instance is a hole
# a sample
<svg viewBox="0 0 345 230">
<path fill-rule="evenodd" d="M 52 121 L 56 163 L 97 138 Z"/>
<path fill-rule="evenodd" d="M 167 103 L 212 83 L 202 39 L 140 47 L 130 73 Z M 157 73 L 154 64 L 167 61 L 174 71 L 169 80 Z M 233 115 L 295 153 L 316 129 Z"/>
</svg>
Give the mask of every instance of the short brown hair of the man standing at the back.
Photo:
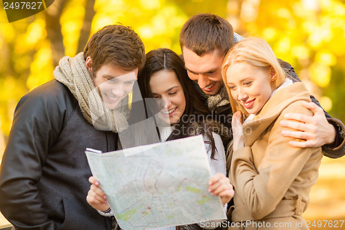
<svg viewBox="0 0 345 230">
<path fill-rule="evenodd" d="M 190 17 L 181 29 L 179 44 L 197 55 L 219 50 L 225 54 L 234 44 L 233 26 L 226 19 L 212 14 Z"/>
</svg>

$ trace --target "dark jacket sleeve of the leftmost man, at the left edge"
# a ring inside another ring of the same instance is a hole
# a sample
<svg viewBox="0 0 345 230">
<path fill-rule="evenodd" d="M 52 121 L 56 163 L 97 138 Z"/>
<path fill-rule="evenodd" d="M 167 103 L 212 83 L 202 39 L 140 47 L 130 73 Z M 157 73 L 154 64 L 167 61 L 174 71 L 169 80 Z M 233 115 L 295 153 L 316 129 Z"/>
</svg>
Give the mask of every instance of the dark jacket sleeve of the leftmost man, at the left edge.
<svg viewBox="0 0 345 230">
<path fill-rule="evenodd" d="M 66 113 L 55 96 L 34 90 L 14 112 L 0 169 L 0 209 L 16 229 L 56 229 L 36 186 Z"/>
</svg>

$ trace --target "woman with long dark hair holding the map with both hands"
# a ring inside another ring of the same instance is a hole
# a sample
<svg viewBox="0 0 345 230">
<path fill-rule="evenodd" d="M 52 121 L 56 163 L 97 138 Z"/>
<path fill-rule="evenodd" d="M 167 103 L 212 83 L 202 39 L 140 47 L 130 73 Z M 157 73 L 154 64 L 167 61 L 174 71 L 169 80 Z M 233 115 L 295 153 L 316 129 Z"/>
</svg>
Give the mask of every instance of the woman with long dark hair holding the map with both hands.
<svg viewBox="0 0 345 230">
<path fill-rule="evenodd" d="M 161 48 L 146 54 L 146 63 L 138 76 L 138 84 L 144 99 L 156 98 L 164 102 L 164 108 L 157 111 L 155 106 L 146 103 L 147 111 L 156 114 L 159 139 L 161 142 L 202 134 L 208 146 L 208 160 L 211 174 L 209 192 L 218 195 L 226 204 L 233 198 L 233 186 L 226 178 L 226 162 L 221 137 L 212 132 L 213 122 L 206 120 L 208 111 L 201 99 L 193 94 L 193 82 L 188 78 L 184 62 L 172 50 Z M 146 100 L 146 102 L 150 101 Z M 161 103 L 157 103 L 161 104 Z M 163 106 L 160 106 L 163 107 Z M 150 115 L 148 115 L 150 117 Z M 92 183 L 88 193 L 88 203 L 99 211 L 109 211 L 106 194 L 99 188 L 99 182 Z M 102 213 L 102 212 L 100 212 Z M 116 226 L 114 229 L 119 229 Z M 164 229 L 201 229 L 197 224 L 188 227 L 168 227 Z"/>
</svg>

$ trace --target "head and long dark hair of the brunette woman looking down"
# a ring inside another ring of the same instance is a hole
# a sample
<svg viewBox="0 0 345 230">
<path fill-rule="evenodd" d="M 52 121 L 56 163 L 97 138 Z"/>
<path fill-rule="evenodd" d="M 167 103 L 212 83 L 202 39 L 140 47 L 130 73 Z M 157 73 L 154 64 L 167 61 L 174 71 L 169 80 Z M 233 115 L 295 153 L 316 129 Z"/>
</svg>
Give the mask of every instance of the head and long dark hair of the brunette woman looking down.
<svg viewBox="0 0 345 230">
<path fill-rule="evenodd" d="M 157 119 L 160 122 L 158 126 L 161 140 L 204 134 L 208 137 L 213 158 L 216 150 L 212 135 L 215 122 L 205 119 L 209 112 L 201 99 L 193 94 L 195 89 L 184 68 L 184 62 L 172 50 L 160 48 L 146 54 L 145 65 L 138 77 L 142 97 L 162 99 L 166 104 Z M 164 87 L 165 85 L 167 86 Z M 176 99 L 180 99 L 181 104 L 177 104 Z M 150 105 L 147 104 L 146 107 Z M 167 133 L 165 129 L 168 129 L 168 136 L 164 136 Z"/>
</svg>

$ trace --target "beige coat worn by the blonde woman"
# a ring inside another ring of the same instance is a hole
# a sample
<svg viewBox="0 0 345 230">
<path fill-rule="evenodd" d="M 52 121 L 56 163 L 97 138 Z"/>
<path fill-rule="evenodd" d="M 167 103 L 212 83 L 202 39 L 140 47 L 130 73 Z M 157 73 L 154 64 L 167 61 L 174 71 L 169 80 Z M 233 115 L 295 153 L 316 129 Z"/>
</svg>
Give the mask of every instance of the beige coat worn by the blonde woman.
<svg viewBox="0 0 345 230">
<path fill-rule="evenodd" d="M 302 105 L 310 101 L 303 83 L 286 86 L 244 124 L 244 148 L 228 158 L 235 187 L 235 206 L 229 212 L 232 226 L 237 224 L 230 229 L 308 229 L 301 215 L 317 182 L 322 148 L 290 146 L 293 138 L 282 136 L 279 122 L 286 113 L 313 115 Z"/>
</svg>

